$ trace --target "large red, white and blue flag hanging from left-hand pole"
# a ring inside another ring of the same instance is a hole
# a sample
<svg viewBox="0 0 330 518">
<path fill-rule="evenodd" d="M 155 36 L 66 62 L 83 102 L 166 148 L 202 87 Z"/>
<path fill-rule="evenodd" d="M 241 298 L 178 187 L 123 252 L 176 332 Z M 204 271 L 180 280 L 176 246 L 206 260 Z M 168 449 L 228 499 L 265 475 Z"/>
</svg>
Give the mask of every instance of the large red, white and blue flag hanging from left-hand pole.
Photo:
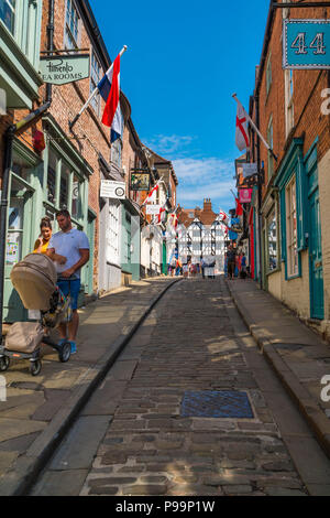
<svg viewBox="0 0 330 518">
<path fill-rule="evenodd" d="M 98 84 L 101 97 L 106 101 L 102 117 L 105 126 L 111 128 L 111 142 L 122 136 L 123 118 L 120 109 L 120 54 L 116 57 L 113 66 Z"/>
</svg>

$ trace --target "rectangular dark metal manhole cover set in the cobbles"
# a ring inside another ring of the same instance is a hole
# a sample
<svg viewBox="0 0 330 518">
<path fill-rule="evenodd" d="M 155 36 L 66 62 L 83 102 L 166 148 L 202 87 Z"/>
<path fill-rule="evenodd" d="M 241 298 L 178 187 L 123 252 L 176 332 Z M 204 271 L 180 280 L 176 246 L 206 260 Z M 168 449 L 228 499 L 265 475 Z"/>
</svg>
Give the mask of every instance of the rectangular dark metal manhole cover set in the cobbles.
<svg viewBox="0 0 330 518">
<path fill-rule="evenodd" d="M 187 391 L 180 414 L 185 418 L 253 419 L 248 393 L 235 390 Z"/>
</svg>

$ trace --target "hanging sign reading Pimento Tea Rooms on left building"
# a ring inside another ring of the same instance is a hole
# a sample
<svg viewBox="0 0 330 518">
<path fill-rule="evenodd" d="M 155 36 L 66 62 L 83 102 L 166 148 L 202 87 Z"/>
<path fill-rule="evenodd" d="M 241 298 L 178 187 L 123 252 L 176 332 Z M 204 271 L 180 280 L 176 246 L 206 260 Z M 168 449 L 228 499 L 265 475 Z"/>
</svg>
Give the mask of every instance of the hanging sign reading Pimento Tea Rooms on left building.
<svg viewBox="0 0 330 518">
<path fill-rule="evenodd" d="M 89 54 L 42 56 L 40 74 L 44 83 L 66 85 L 89 77 Z"/>
</svg>

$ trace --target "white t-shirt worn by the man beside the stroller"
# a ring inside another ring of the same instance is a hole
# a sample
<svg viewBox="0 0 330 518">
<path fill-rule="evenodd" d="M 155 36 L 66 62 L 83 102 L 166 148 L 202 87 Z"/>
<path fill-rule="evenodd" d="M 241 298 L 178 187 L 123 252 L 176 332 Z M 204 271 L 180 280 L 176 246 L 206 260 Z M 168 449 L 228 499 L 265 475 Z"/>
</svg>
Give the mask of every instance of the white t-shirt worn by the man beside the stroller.
<svg viewBox="0 0 330 518">
<path fill-rule="evenodd" d="M 69 268 L 80 260 L 80 249 L 89 250 L 88 237 L 77 228 L 72 228 L 68 233 L 61 230 L 51 237 L 48 249 L 51 250 L 52 248 L 55 249 L 55 253 L 64 256 L 67 259 L 65 265 L 55 262 L 57 273 L 62 273 L 63 271 L 69 270 Z M 75 271 L 74 277 L 80 278 L 80 269 Z"/>
</svg>

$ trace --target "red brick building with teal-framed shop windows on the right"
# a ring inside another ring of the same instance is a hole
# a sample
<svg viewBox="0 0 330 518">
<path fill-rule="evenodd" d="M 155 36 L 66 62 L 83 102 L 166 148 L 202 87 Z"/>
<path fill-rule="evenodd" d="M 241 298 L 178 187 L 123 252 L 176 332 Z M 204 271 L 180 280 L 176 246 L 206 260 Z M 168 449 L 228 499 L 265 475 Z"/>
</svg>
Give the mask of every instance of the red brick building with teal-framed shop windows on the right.
<svg viewBox="0 0 330 518">
<path fill-rule="evenodd" d="M 265 173 L 262 219 L 256 192 L 250 218 L 256 234 L 261 224 L 256 277 L 263 288 L 323 332 L 330 324 L 330 119 L 321 105 L 330 76 L 322 69 L 283 69 L 282 32 L 284 19 L 329 15 L 326 7 L 271 4 L 250 104 L 250 115 L 277 155 L 276 161 L 252 134 L 250 160 Z"/>
</svg>

